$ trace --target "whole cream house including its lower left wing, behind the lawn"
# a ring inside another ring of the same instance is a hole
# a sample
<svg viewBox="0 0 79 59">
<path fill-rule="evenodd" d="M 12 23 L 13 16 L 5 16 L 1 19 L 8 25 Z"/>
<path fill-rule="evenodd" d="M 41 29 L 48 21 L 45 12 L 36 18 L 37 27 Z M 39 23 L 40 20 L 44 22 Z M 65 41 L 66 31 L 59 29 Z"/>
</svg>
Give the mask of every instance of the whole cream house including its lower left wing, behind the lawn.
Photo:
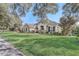
<svg viewBox="0 0 79 59">
<path fill-rule="evenodd" d="M 36 24 L 25 24 L 23 26 L 24 32 L 58 32 L 61 33 L 61 27 L 58 23 L 51 20 L 40 20 Z"/>
</svg>

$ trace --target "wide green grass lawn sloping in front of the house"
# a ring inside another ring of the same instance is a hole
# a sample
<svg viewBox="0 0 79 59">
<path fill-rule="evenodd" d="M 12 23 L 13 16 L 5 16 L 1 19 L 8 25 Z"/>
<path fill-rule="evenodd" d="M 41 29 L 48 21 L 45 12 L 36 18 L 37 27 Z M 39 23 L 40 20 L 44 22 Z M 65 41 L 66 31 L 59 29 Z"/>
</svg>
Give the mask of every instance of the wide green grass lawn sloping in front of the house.
<svg viewBox="0 0 79 59">
<path fill-rule="evenodd" d="M 35 56 L 79 56 L 79 38 L 32 33 L 0 33 L 25 55 Z"/>
</svg>

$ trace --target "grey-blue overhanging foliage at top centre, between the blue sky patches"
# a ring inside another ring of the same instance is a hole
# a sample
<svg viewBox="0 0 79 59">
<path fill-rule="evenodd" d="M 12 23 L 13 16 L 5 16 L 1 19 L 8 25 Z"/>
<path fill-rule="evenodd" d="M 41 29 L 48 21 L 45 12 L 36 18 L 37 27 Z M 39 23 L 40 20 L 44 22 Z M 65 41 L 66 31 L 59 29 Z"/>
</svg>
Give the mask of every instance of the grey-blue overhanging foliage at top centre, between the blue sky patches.
<svg viewBox="0 0 79 59">
<path fill-rule="evenodd" d="M 55 14 L 58 5 L 55 3 L 36 3 L 33 8 L 33 15 L 39 18 L 46 18 L 48 13 Z"/>
</svg>

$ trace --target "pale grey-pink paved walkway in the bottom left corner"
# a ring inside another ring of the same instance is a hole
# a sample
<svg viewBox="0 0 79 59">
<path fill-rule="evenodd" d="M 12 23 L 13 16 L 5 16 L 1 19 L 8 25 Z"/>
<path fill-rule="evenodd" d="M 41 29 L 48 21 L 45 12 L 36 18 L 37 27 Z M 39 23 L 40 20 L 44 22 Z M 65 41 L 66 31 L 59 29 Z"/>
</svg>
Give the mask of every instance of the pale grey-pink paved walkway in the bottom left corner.
<svg viewBox="0 0 79 59">
<path fill-rule="evenodd" d="M 0 38 L 0 56 L 23 56 L 23 54 L 10 43 Z"/>
</svg>

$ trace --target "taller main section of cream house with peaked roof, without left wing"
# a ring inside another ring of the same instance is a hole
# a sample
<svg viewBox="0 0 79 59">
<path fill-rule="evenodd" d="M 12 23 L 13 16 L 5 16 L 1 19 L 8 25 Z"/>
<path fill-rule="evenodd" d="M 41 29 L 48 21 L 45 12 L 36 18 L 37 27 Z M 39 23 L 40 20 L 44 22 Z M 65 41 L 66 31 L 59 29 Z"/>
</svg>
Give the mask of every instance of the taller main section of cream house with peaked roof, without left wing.
<svg viewBox="0 0 79 59">
<path fill-rule="evenodd" d="M 59 24 L 47 19 L 41 20 L 38 23 L 34 24 L 34 28 L 36 29 L 36 32 L 61 33 L 61 27 L 59 26 Z"/>
</svg>

